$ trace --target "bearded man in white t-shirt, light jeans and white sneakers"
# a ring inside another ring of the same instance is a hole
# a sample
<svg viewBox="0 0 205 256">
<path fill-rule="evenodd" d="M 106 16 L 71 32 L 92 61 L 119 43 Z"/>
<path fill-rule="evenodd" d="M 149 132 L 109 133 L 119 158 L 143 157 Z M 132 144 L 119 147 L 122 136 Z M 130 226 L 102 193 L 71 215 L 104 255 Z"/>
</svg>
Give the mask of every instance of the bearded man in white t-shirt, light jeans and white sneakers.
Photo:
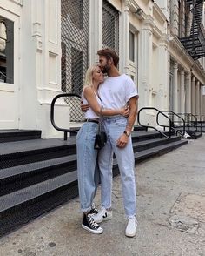
<svg viewBox="0 0 205 256">
<path fill-rule="evenodd" d="M 99 86 L 98 93 L 102 106 L 116 109 L 129 106 L 129 117 L 115 116 L 103 118 L 103 126 L 108 136 L 107 144 L 99 152 L 98 164 L 101 173 L 102 209 L 93 216 L 96 223 L 112 218 L 112 162 L 115 152 L 122 179 L 122 196 L 128 224 L 125 235 L 136 235 L 136 181 L 135 158 L 131 141 L 131 131 L 137 115 L 138 94 L 132 79 L 117 70 L 119 57 L 116 52 L 105 48 L 97 51 L 99 66 L 108 77 Z"/>
</svg>

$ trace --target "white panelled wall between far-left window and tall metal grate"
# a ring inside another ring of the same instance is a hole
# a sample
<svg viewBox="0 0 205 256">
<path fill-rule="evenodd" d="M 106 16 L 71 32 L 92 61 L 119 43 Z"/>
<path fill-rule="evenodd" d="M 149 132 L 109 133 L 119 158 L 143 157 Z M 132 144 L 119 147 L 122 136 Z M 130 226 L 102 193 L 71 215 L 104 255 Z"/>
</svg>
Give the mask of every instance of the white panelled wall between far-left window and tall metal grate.
<svg viewBox="0 0 205 256">
<path fill-rule="evenodd" d="M 17 12 L 20 21 L 15 29 L 19 35 L 14 35 L 18 40 L 14 60 L 18 105 L 15 106 L 13 100 L 7 106 L 8 111 L 17 112 L 18 124 L 15 127 L 1 125 L 0 129 L 39 129 L 43 138 L 58 137 L 60 133 L 50 125 L 50 103 L 62 92 L 60 1 L 20 2 L 3 1 L 9 12 Z M 0 93 L 0 97 L 2 95 Z M 60 101 L 56 107 L 56 122 L 59 126 L 69 126 L 68 106 Z"/>
</svg>

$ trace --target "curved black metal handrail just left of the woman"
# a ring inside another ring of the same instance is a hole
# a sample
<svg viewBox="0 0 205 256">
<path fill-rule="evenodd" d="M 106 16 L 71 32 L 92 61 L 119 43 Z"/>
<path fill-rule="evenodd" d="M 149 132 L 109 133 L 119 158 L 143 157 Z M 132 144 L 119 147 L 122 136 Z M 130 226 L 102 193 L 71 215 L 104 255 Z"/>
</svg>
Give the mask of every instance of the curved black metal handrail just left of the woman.
<svg viewBox="0 0 205 256">
<path fill-rule="evenodd" d="M 71 132 L 72 133 L 77 133 L 77 131 L 58 127 L 56 125 L 56 123 L 55 123 L 55 120 L 54 120 L 54 107 L 55 107 L 56 100 L 58 98 L 61 98 L 61 97 L 77 97 L 77 98 L 81 98 L 81 96 L 76 94 L 76 93 L 61 93 L 61 94 L 56 95 L 56 97 L 53 98 L 53 100 L 52 100 L 52 102 L 50 104 L 50 122 L 51 122 L 51 124 L 53 125 L 53 127 L 57 131 L 63 131 L 64 132 L 64 140 L 67 140 L 68 132 L 69 133 L 71 133 Z"/>
</svg>

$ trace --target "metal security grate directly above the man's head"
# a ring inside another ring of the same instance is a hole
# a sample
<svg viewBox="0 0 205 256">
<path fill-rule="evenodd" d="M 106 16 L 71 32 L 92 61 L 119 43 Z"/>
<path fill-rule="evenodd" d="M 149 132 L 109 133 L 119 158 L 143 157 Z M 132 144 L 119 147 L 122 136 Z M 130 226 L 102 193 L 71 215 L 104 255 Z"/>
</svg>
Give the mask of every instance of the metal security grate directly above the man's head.
<svg viewBox="0 0 205 256">
<path fill-rule="evenodd" d="M 119 52 L 119 12 L 106 0 L 103 0 L 102 21 L 103 47 Z"/>
</svg>

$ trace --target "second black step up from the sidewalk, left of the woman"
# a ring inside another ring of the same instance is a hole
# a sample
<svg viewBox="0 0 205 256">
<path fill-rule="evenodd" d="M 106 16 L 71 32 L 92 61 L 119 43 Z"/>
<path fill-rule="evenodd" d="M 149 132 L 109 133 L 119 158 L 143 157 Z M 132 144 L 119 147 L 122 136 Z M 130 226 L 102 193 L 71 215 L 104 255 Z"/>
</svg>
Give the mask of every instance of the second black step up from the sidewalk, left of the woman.
<svg viewBox="0 0 205 256">
<path fill-rule="evenodd" d="M 54 158 L 0 171 L 0 196 L 76 170 L 76 155 Z"/>
</svg>

